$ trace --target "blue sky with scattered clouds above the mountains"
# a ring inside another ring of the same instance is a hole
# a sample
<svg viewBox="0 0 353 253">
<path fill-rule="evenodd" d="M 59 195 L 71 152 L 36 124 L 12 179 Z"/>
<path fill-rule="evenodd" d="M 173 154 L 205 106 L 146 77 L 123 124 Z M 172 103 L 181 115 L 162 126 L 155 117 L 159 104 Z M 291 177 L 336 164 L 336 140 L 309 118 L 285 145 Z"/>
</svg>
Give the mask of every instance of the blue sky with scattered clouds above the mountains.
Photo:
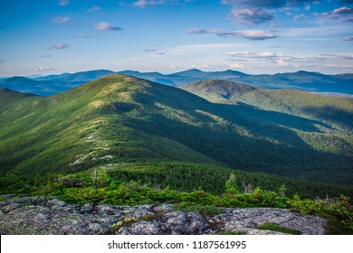
<svg viewBox="0 0 353 253">
<path fill-rule="evenodd" d="M 353 72 L 353 0 L 0 2 L 0 76 Z"/>
</svg>

